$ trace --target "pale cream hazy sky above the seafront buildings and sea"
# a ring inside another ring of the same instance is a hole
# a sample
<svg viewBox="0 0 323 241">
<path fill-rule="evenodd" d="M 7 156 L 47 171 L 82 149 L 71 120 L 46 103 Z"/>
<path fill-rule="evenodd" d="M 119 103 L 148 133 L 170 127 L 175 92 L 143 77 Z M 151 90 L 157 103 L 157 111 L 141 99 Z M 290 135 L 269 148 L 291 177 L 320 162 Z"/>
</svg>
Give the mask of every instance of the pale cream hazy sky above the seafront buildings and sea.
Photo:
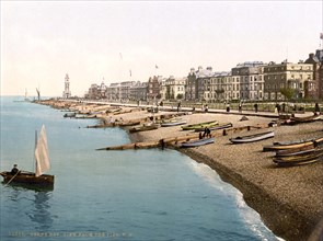
<svg viewBox="0 0 323 241">
<path fill-rule="evenodd" d="M 322 48 L 322 0 L 1 0 L 0 94 L 61 96 L 66 73 L 71 94 L 83 96 L 102 81 L 298 62 Z"/>
</svg>

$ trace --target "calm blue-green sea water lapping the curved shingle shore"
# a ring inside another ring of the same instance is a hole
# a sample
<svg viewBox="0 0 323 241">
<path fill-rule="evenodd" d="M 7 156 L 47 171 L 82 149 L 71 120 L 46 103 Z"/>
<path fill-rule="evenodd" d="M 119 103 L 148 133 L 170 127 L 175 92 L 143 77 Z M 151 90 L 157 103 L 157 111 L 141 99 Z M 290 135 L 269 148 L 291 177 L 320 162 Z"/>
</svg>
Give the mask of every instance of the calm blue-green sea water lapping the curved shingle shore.
<svg viewBox="0 0 323 241">
<path fill-rule="evenodd" d="M 0 240 L 276 240 L 242 194 L 175 150 L 96 151 L 129 142 L 48 106 L 1 97 L 0 170 L 34 170 L 47 130 L 53 191 L 0 185 Z"/>
</svg>

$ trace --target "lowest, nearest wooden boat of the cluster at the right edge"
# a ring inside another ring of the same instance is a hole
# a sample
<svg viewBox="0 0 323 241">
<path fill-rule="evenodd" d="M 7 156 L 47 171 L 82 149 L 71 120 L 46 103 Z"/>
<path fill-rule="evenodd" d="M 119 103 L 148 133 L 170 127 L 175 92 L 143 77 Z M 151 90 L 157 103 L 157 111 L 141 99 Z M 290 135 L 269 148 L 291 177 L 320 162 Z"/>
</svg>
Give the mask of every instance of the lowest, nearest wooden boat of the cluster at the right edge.
<svg viewBox="0 0 323 241">
<path fill-rule="evenodd" d="M 316 161 L 323 160 L 323 149 L 316 149 L 311 152 L 303 152 L 296 156 L 278 157 L 274 158 L 273 161 L 279 167 L 292 167 L 300 164 L 309 164 Z"/>
</svg>

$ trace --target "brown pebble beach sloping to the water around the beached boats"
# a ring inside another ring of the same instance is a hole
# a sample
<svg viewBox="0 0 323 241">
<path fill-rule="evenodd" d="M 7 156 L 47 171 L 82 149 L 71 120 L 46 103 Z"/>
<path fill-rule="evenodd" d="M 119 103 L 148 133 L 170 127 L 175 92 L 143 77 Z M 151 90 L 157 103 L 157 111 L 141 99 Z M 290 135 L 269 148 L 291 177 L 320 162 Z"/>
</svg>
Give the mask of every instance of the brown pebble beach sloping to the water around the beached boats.
<svg viewBox="0 0 323 241">
<path fill-rule="evenodd" d="M 53 104 L 51 104 L 53 105 Z M 129 110 L 126 107 L 125 110 Z M 136 111 L 114 115 L 114 118 L 132 120 L 155 114 L 147 111 Z M 303 115 L 311 115 L 305 113 Z M 268 124 L 275 117 L 262 117 L 259 114 L 247 115 L 247 120 L 241 120 L 244 113 L 194 113 L 181 116 L 187 124 L 218 120 L 220 124 L 232 123 L 233 127 L 256 127 L 237 133 L 221 135 L 215 130 L 215 144 L 183 149 L 172 146 L 197 162 L 203 162 L 216 170 L 221 179 L 237 187 L 244 200 L 255 209 L 277 237 L 285 240 L 320 240 L 322 239 L 323 218 L 323 162 L 277 168 L 273 162 L 274 152 L 263 152 L 263 147 L 274 141 L 290 141 L 323 136 L 322 120 L 299 124 L 295 126 L 274 126 Z M 322 118 L 322 117 L 321 117 Z M 125 127 L 129 128 L 129 127 Z M 275 137 L 251 144 L 232 145 L 229 138 L 274 130 Z M 194 133 L 183 131 L 181 126 L 161 127 L 154 130 L 134 133 L 132 142 L 153 141 L 170 137 L 188 136 Z"/>
</svg>

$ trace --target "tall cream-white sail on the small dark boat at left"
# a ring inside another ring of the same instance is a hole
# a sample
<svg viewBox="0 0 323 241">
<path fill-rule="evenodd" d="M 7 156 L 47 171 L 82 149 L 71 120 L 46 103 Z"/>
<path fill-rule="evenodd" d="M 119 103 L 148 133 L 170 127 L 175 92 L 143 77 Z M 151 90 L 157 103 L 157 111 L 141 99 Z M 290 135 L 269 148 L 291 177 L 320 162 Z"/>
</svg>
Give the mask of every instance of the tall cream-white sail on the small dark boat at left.
<svg viewBox="0 0 323 241">
<path fill-rule="evenodd" d="M 36 176 L 42 175 L 44 172 L 49 171 L 50 162 L 48 156 L 47 137 L 45 126 L 42 126 L 39 138 L 35 149 L 36 159 Z"/>
</svg>

